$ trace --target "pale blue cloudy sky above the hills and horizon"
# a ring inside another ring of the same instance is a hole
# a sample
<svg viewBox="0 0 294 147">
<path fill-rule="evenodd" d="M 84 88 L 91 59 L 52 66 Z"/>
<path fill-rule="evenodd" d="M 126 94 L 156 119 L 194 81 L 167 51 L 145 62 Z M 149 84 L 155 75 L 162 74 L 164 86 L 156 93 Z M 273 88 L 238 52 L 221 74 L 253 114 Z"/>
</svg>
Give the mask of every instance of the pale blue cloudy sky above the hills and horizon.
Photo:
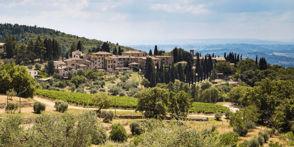
<svg viewBox="0 0 294 147">
<path fill-rule="evenodd" d="M 138 45 L 143 40 L 294 39 L 293 0 L 0 0 L 0 22 Z"/>
</svg>

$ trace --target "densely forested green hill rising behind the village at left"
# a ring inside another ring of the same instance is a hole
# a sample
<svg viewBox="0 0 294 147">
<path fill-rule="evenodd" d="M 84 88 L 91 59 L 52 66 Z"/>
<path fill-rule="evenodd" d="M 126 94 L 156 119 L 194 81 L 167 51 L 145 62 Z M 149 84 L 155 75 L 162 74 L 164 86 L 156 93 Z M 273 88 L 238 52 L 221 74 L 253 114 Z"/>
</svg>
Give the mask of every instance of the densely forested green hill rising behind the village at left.
<svg viewBox="0 0 294 147">
<path fill-rule="evenodd" d="M 6 36 L 14 36 L 15 40 L 19 43 L 24 42 L 27 44 L 29 42 L 29 39 L 32 38 L 33 40 L 36 40 L 38 36 L 41 37 L 41 39 L 56 39 L 62 48 L 62 53 L 65 53 L 66 51 L 69 51 L 69 48 L 73 41 L 78 43 L 80 40 L 83 44 L 83 52 L 85 54 L 88 53 L 89 49 L 101 47 L 103 44 L 103 41 L 96 40 L 96 39 L 87 39 L 85 37 L 78 37 L 76 35 L 71 34 L 65 34 L 61 31 L 54 30 L 54 29 L 47 29 L 47 28 L 41 28 L 37 26 L 26 26 L 26 25 L 19 25 L 19 24 L 0 24 L 0 41 L 4 42 L 4 39 Z M 110 43 L 110 50 L 113 51 L 113 49 L 116 47 L 118 49 L 118 46 L 116 43 L 113 44 Z M 121 49 L 123 51 L 128 50 L 134 50 L 131 47 L 121 46 Z"/>
</svg>

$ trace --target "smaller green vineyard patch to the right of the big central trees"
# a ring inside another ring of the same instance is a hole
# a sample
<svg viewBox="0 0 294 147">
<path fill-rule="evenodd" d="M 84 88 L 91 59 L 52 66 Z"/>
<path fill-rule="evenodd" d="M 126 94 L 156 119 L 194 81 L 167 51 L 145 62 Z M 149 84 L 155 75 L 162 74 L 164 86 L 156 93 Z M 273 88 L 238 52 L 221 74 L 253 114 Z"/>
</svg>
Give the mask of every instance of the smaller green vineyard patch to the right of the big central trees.
<svg viewBox="0 0 294 147">
<path fill-rule="evenodd" d="M 230 110 L 230 108 L 213 103 L 194 102 L 189 112 L 213 114 L 216 112 L 224 113 L 226 110 Z"/>
</svg>

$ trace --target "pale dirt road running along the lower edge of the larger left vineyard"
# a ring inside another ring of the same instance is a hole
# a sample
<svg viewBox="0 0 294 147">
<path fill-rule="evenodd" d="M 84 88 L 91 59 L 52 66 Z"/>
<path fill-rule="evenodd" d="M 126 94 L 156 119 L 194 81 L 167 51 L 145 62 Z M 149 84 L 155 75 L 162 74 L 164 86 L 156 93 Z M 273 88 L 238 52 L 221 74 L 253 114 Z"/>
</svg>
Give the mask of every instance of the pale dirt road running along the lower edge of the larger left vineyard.
<svg viewBox="0 0 294 147">
<path fill-rule="evenodd" d="M 50 101 L 50 100 L 47 100 L 47 99 L 44 99 L 44 98 L 39 98 L 37 96 L 34 96 L 34 100 L 39 101 L 41 103 L 45 103 L 46 105 L 49 105 L 49 106 L 54 106 L 55 105 L 54 101 Z M 83 110 L 97 110 L 97 108 L 86 108 L 86 107 L 78 107 L 78 106 L 72 106 L 72 105 L 69 105 L 68 108 L 83 109 Z M 111 111 L 114 111 L 114 109 L 101 109 L 101 110 L 106 110 L 106 111 L 111 110 Z M 131 111 L 131 112 L 134 112 L 135 110 L 116 109 L 116 111 Z"/>
</svg>

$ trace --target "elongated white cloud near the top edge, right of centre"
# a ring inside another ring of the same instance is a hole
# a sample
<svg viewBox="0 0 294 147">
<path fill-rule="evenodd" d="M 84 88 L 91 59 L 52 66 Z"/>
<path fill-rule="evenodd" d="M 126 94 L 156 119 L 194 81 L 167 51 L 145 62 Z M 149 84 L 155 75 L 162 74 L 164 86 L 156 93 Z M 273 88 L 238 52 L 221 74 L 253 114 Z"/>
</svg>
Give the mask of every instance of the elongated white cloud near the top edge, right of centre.
<svg viewBox="0 0 294 147">
<path fill-rule="evenodd" d="M 179 4 L 154 4 L 150 9 L 179 13 L 191 12 L 193 14 L 206 14 L 208 13 L 208 9 L 205 9 L 205 6 L 205 4 L 198 4 L 196 6 L 180 6 Z"/>
</svg>

